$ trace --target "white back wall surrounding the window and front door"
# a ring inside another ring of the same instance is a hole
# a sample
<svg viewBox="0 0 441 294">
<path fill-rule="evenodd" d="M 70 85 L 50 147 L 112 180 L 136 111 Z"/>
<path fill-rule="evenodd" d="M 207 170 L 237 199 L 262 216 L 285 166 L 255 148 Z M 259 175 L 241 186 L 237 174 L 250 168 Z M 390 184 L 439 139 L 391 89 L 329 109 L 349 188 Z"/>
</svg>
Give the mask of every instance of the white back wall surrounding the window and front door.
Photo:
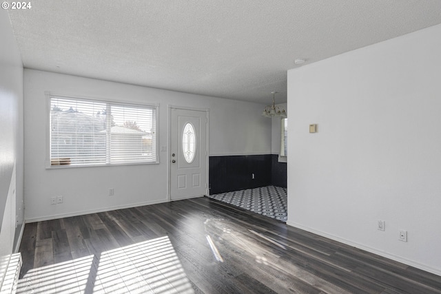
<svg viewBox="0 0 441 294">
<path fill-rule="evenodd" d="M 209 108 L 210 155 L 271 152 L 271 120 L 260 116 L 265 105 L 37 70 L 25 70 L 24 78 L 27 221 L 167 201 L 168 152 L 160 152 L 158 165 L 45 169 L 48 147 L 45 91 L 159 103 L 160 147 L 168 144 L 168 105 Z M 110 187 L 114 188 L 114 196 L 107 196 Z M 63 196 L 63 204 L 51 205 L 51 196 Z"/>
</svg>

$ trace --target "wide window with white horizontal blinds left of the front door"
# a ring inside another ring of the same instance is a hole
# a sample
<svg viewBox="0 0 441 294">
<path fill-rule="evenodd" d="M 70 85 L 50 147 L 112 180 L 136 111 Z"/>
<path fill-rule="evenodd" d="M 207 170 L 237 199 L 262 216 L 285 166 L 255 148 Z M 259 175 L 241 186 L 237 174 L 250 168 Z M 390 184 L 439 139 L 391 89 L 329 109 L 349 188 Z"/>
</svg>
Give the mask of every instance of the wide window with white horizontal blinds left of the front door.
<svg viewBox="0 0 441 294">
<path fill-rule="evenodd" d="M 50 96 L 50 165 L 156 163 L 154 106 Z"/>
</svg>

